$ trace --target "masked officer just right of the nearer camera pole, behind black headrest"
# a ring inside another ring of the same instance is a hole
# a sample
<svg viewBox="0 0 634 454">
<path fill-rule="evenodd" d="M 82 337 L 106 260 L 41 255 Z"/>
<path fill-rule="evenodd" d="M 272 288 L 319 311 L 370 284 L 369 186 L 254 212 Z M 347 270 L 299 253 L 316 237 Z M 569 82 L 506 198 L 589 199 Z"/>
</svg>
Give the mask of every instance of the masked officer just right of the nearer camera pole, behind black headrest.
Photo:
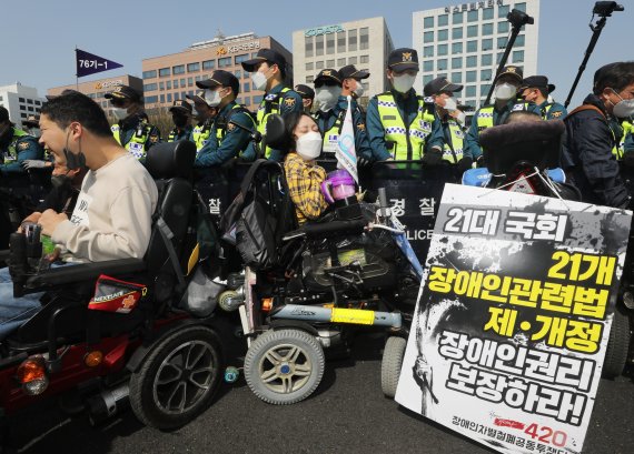
<svg viewBox="0 0 634 454">
<path fill-rule="evenodd" d="M 486 128 L 504 124 L 508 114 L 517 110 L 533 110 L 527 103 L 517 102 L 517 90 L 524 81 L 522 68 L 508 65 L 495 78 L 495 102 L 479 108 L 472 119 L 465 139 L 464 157 L 476 160 L 482 155 L 479 133 Z"/>
</svg>

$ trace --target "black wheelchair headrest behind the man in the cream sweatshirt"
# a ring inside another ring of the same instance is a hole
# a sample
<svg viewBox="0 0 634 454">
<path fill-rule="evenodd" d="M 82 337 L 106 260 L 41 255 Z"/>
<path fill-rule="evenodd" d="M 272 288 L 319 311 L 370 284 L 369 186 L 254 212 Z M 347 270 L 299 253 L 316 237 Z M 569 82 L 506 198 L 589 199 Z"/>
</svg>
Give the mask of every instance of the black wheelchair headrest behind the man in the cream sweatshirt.
<svg viewBox="0 0 634 454">
<path fill-rule="evenodd" d="M 155 180 L 191 179 L 196 145 L 188 140 L 157 143 L 148 150 L 146 168 Z"/>
</svg>

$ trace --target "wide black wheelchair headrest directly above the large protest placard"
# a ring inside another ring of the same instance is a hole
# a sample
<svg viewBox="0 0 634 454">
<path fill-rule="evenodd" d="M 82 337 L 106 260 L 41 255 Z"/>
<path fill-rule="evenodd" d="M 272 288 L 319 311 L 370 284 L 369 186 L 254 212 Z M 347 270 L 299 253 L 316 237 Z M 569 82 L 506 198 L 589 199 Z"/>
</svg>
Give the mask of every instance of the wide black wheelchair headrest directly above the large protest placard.
<svg viewBox="0 0 634 454">
<path fill-rule="evenodd" d="M 486 167 L 494 174 L 506 173 L 517 161 L 528 161 L 541 170 L 559 167 L 564 130 L 561 120 L 487 128 L 479 134 Z"/>
</svg>

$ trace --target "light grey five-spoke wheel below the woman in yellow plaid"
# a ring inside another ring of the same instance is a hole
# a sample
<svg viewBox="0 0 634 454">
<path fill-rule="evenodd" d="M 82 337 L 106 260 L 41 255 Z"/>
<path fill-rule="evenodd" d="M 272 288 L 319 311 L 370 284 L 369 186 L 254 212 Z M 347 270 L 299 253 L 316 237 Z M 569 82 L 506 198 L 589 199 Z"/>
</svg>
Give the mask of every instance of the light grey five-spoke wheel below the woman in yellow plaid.
<svg viewBox="0 0 634 454">
<path fill-rule="evenodd" d="M 313 394 L 324 366 L 324 350 L 315 336 L 300 330 L 268 331 L 247 352 L 245 377 L 262 401 L 289 405 Z"/>
</svg>

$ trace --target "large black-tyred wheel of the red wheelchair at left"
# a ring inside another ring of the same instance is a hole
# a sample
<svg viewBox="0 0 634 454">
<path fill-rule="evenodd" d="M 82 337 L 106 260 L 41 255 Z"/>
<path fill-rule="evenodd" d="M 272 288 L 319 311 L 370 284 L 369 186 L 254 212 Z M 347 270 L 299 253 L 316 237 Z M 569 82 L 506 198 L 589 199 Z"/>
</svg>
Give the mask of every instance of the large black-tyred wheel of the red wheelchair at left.
<svg viewBox="0 0 634 454">
<path fill-rule="evenodd" d="M 220 385 L 220 347 L 214 331 L 188 326 L 166 336 L 130 377 L 130 405 L 146 425 L 180 427 L 210 404 Z"/>
</svg>

